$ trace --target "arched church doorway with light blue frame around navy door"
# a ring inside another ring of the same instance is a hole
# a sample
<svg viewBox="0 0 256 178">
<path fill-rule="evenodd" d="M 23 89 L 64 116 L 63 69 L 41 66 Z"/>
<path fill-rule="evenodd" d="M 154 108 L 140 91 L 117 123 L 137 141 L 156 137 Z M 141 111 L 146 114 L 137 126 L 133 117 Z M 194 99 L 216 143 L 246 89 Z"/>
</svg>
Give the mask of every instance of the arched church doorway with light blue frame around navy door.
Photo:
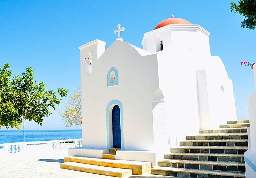
<svg viewBox="0 0 256 178">
<path fill-rule="evenodd" d="M 119 113 L 118 113 L 118 109 L 119 109 Z M 119 116 L 119 115 L 120 116 Z M 117 118 L 115 118 L 117 116 Z M 119 118 L 120 118 L 120 129 L 118 128 L 119 126 L 117 126 L 117 128 L 115 128 L 115 126 L 113 125 L 119 125 L 118 123 L 116 123 L 116 121 L 118 122 Z M 113 118 L 116 119 L 113 121 Z M 118 147 L 121 149 L 124 149 L 124 137 L 123 137 L 123 107 L 122 107 L 122 103 L 118 100 L 112 100 L 111 102 L 109 102 L 107 108 L 106 108 L 106 119 L 107 119 L 107 149 L 109 148 L 114 148 L 116 147 L 115 145 L 115 138 L 118 138 L 118 134 L 120 135 L 120 143 L 121 145 L 119 145 Z M 116 129 L 117 132 L 114 132 L 113 130 Z M 120 130 L 120 131 L 118 131 Z M 119 133 L 118 133 L 119 132 Z M 117 133 L 117 135 L 114 135 L 115 133 Z M 117 136 L 117 137 L 115 137 Z"/>
</svg>

